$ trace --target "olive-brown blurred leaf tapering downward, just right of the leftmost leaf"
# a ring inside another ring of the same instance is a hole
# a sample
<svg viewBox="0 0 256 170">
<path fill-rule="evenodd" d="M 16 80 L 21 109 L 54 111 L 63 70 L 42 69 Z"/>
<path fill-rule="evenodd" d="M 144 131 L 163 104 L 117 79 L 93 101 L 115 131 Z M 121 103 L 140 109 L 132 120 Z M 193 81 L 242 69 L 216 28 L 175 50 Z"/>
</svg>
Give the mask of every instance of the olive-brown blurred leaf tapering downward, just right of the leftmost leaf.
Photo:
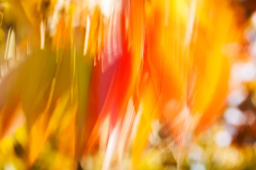
<svg viewBox="0 0 256 170">
<path fill-rule="evenodd" d="M 29 128 L 47 105 L 54 73 L 54 53 L 38 50 L 32 53 L 20 74 L 22 105 Z"/>
</svg>

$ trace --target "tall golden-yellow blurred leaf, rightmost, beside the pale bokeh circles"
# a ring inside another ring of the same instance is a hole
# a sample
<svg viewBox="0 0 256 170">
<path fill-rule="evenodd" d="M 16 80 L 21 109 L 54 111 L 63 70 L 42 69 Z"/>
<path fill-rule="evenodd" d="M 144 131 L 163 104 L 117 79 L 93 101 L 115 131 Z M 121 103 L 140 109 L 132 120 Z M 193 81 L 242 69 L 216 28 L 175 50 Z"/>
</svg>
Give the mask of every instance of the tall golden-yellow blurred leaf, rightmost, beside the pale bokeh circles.
<svg viewBox="0 0 256 170">
<path fill-rule="evenodd" d="M 197 41 L 193 43 L 195 45 L 195 51 L 193 52 L 195 53 L 194 67 L 196 67 L 196 70 L 192 74 L 196 74 L 196 79 L 194 80 L 194 86 L 189 87 L 192 91 L 189 94 L 188 102 L 192 113 L 203 113 L 209 103 L 212 102 L 215 89 L 221 81 L 220 76 L 229 72 L 228 63 L 224 61 L 227 56 L 222 54 L 222 46 L 233 42 L 238 37 L 233 15 L 225 3 L 221 3 L 221 6 L 203 3 L 203 6 L 216 11 L 214 12 L 216 14 L 211 16 L 210 12 L 203 13 L 204 16 L 209 16 L 207 23 L 199 20 L 198 31 L 204 33 L 204 35 L 198 34 Z M 205 10 L 204 8 L 200 10 Z M 209 24 L 214 24 L 215 29 L 210 29 Z M 226 69 L 222 68 L 223 63 L 227 65 Z M 227 81 L 222 82 L 222 85 L 226 86 Z"/>
</svg>

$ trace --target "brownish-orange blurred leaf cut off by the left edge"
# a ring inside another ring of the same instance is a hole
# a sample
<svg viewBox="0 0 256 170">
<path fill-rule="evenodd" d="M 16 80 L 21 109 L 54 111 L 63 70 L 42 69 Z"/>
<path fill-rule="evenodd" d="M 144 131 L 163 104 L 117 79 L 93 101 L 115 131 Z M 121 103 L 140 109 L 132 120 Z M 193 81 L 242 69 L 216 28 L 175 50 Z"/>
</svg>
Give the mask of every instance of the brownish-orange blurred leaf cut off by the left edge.
<svg viewBox="0 0 256 170">
<path fill-rule="evenodd" d="M 20 103 L 21 82 L 19 77 L 25 62 L 26 59 L 15 63 L 15 68 L 9 69 L 0 82 L 0 139 L 9 135 L 12 130 L 15 130 L 15 127 L 19 127 L 24 121 Z"/>
</svg>

